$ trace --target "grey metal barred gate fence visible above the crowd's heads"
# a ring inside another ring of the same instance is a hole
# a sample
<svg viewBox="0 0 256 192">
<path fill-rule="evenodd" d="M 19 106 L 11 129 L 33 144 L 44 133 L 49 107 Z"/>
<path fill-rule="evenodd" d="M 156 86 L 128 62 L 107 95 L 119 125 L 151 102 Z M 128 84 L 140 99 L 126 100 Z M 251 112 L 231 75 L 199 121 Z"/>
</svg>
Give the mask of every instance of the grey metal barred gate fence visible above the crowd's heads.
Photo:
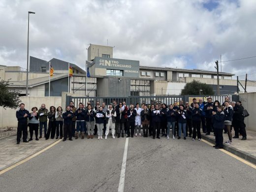
<svg viewBox="0 0 256 192">
<path fill-rule="evenodd" d="M 210 97 L 212 97 L 213 101 L 219 100 L 220 103 L 222 104 L 226 96 L 227 95 L 210 96 Z M 230 101 L 231 100 L 237 101 L 239 99 L 238 95 L 228 95 L 228 96 Z M 147 105 L 150 105 L 152 103 L 154 104 L 165 103 L 169 105 L 169 104 L 173 104 L 174 101 L 177 101 L 179 103 L 180 100 L 189 101 L 191 103 L 193 98 L 196 98 L 197 100 L 199 98 L 202 98 L 204 101 L 206 101 L 207 97 L 209 96 L 127 96 L 127 97 L 66 96 L 66 105 L 69 105 L 69 102 L 71 100 L 74 102 L 75 107 L 78 107 L 78 104 L 80 102 L 85 104 L 87 102 L 90 102 L 92 106 L 95 106 L 96 101 L 99 101 L 99 103 L 104 102 L 106 105 L 109 105 L 109 104 L 112 104 L 114 100 L 116 100 L 117 103 L 125 101 L 127 105 L 136 104 L 136 103 L 139 103 L 140 105 L 142 103 L 145 103 Z"/>
</svg>

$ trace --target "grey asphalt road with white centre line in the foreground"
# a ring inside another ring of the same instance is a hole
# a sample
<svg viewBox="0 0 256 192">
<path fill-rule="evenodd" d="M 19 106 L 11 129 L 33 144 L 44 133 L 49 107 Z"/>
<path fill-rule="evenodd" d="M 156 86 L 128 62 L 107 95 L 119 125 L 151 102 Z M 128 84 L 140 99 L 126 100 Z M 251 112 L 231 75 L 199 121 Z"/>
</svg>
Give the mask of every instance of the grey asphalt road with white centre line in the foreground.
<svg viewBox="0 0 256 192">
<path fill-rule="evenodd" d="M 117 192 L 125 138 L 59 142 L 0 175 L 1 192 Z M 255 192 L 256 169 L 202 141 L 128 139 L 125 192 Z"/>
</svg>

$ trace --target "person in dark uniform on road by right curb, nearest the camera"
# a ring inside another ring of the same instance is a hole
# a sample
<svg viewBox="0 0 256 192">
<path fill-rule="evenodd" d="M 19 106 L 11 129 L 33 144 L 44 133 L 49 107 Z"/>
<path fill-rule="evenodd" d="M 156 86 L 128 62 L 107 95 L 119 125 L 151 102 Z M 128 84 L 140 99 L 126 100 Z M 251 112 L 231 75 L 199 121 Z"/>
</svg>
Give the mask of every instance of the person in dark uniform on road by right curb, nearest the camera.
<svg viewBox="0 0 256 192">
<path fill-rule="evenodd" d="M 213 127 L 215 128 L 215 141 L 216 144 L 215 149 L 223 149 L 223 129 L 224 129 L 224 121 L 225 114 L 222 111 L 223 106 L 217 106 L 217 113 L 212 111 L 213 114 Z"/>
</svg>

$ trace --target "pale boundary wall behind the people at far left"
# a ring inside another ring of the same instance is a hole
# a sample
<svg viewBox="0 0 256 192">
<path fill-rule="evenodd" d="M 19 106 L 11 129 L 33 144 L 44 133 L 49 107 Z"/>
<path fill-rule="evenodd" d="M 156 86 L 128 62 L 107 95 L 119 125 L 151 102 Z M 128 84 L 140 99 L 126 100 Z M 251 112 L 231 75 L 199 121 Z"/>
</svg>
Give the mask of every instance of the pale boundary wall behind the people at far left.
<svg viewBox="0 0 256 192">
<path fill-rule="evenodd" d="M 50 106 L 62 106 L 62 97 L 61 96 L 21 96 L 20 99 L 25 104 L 25 109 L 31 112 L 32 107 L 39 107 L 42 103 L 45 103 L 46 108 L 49 109 Z M 10 109 L 0 107 L 0 127 L 11 127 L 17 126 L 17 118 L 16 118 L 16 111 L 18 109 Z"/>
</svg>

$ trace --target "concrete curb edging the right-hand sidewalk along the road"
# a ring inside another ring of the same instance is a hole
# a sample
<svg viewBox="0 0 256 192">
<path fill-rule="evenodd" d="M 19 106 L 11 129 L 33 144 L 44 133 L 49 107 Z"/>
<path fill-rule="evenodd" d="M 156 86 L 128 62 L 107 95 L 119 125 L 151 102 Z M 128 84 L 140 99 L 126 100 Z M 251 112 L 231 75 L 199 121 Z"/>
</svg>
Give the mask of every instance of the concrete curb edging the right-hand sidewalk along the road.
<svg viewBox="0 0 256 192">
<path fill-rule="evenodd" d="M 203 134 L 201 134 L 201 137 L 202 137 L 202 139 L 204 139 L 204 140 L 206 140 L 206 141 L 208 141 L 212 144 L 215 144 L 215 139 L 213 139 L 211 137 L 208 137 L 206 135 L 203 135 Z M 234 155 L 236 155 L 236 156 L 238 156 L 238 157 L 240 157 L 240 158 L 243 158 L 245 160 L 248 160 L 248 161 L 256 164 L 256 157 L 247 153 L 247 152 L 240 151 L 239 149 L 237 149 L 235 147 L 231 147 L 227 144 L 223 144 L 223 149 L 232 153 L 232 154 L 234 154 Z"/>
</svg>

